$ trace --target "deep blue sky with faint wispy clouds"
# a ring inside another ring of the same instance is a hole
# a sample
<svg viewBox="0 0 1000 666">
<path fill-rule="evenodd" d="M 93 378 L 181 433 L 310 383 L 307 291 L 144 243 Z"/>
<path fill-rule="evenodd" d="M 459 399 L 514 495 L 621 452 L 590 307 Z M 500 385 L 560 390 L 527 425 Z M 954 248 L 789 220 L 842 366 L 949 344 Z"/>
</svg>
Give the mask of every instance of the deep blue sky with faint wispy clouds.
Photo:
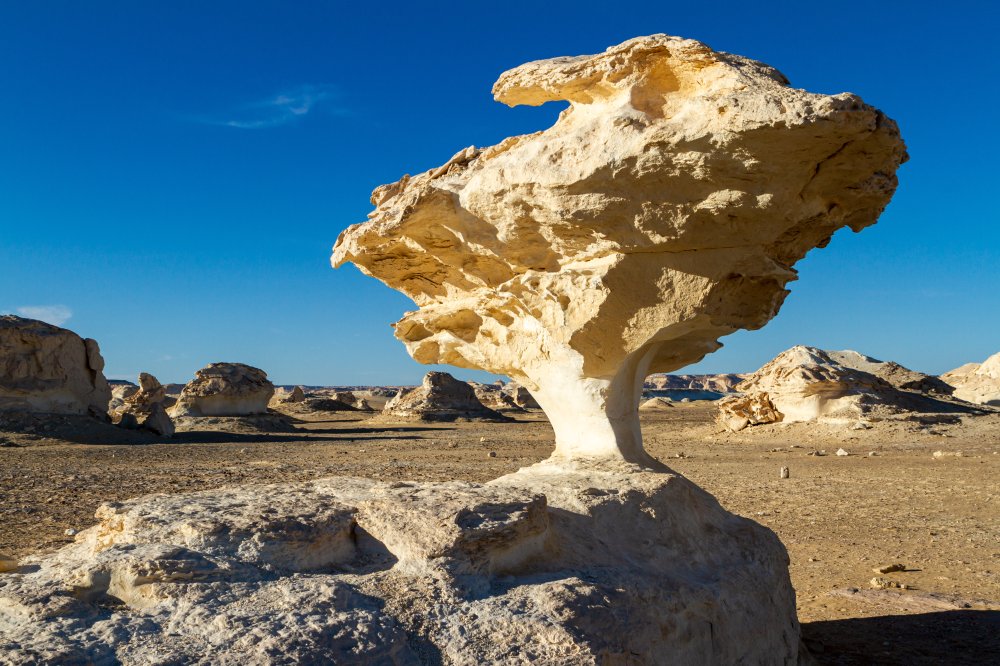
<svg viewBox="0 0 1000 666">
<path fill-rule="evenodd" d="M 500 72 L 666 32 L 860 94 L 911 156 L 878 225 L 812 252 L 771 324 L 692 370 L 799 343 L 927 372 L 983 360 L 1000 350 L 995 7 L 0 2 L 0 311 L 71 314 L 111 377 L 232 360 L 280 383 L 415 382 L 427 368 L 389 327 L 412 304 L 332 270 L 338 233 L 375 186 L 554 121 L 495 103 Z"/>
</svg>

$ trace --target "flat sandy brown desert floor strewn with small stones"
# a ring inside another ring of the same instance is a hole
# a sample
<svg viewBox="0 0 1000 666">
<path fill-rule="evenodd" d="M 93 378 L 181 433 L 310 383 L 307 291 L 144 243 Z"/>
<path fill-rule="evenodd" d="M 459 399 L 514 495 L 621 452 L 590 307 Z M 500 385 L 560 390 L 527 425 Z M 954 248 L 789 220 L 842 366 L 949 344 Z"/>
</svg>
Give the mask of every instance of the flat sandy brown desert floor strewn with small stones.
<svg viewBox="0 0 1000 666">
<path fill-rule="evenodd" d="M 647 448 L 778 533 L 819 663 L 1000 663 L 1000 414 L 735 434 L 713 416 L 707 402 L 644 414 Z M 137 446 L 0 432 L 0 552 L 58 548 L 105 500 L 330 475 L 485 481 L 552 448 L 541 412 L 512 424 L 315 418 L 301 433 L 186 433 Z M 851 455 L 835 455 L 841 447 Z M 790 478 L 779 478 L 782 466 Z M 872 589 L 872 568 L 892 563 L 906 570 L 884 577 L 909 589 Z"/>
</svg>

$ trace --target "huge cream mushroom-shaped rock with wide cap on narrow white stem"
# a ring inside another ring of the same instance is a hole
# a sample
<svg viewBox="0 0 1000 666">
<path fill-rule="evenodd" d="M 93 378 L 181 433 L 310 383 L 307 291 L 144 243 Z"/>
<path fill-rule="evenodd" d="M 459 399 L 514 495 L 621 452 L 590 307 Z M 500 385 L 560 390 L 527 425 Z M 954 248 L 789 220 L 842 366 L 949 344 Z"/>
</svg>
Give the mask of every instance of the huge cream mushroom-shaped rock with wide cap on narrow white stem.
<svg viewBox="0 0 1000 666">
<path fill-rule="evenodd" d="M 877 220 L 906 159 L 857 96 L 666 35 L 531 62 L 493 92 L 570 104 L 548 130 L 377 188 L 332 262 L 413 299 L 395 332 L 417 361 L 526 386 L 556 458 L 647 462 L 643 378 L 763 326 L 795 262 Z"/>
</svg>

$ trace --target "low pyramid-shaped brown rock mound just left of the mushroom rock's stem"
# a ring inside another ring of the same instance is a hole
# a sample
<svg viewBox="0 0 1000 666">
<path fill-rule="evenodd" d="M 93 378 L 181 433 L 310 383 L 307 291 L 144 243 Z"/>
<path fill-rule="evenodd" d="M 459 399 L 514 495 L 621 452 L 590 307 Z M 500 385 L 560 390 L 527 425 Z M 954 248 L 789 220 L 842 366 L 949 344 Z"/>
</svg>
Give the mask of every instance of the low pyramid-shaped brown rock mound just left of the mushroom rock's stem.
<svg viewBox="0 0 1000 666">
<path fill-rule="evenodd" d="M 420 386 L 400 391 L 386 403 L 381 418 L 401 421 L 509 421 L 476 397 L 471 386 L 447 372 L 428 372 Z"/>
</svg>

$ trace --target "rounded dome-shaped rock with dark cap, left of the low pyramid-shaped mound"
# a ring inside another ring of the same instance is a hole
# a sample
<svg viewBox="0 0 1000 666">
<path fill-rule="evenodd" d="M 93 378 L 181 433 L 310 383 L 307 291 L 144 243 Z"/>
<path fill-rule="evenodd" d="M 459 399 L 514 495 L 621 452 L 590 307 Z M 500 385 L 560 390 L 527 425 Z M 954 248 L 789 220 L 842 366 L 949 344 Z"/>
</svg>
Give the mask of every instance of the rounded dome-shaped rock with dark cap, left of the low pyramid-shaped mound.
<svg viewBox="0 0 1000 666">
<path fill-rule="evenodd" d="M 173 417 L 266 414 L 274 384 L 260 368 L 212 363 L 195 373 L 170 409 Z"/>
</svg>

